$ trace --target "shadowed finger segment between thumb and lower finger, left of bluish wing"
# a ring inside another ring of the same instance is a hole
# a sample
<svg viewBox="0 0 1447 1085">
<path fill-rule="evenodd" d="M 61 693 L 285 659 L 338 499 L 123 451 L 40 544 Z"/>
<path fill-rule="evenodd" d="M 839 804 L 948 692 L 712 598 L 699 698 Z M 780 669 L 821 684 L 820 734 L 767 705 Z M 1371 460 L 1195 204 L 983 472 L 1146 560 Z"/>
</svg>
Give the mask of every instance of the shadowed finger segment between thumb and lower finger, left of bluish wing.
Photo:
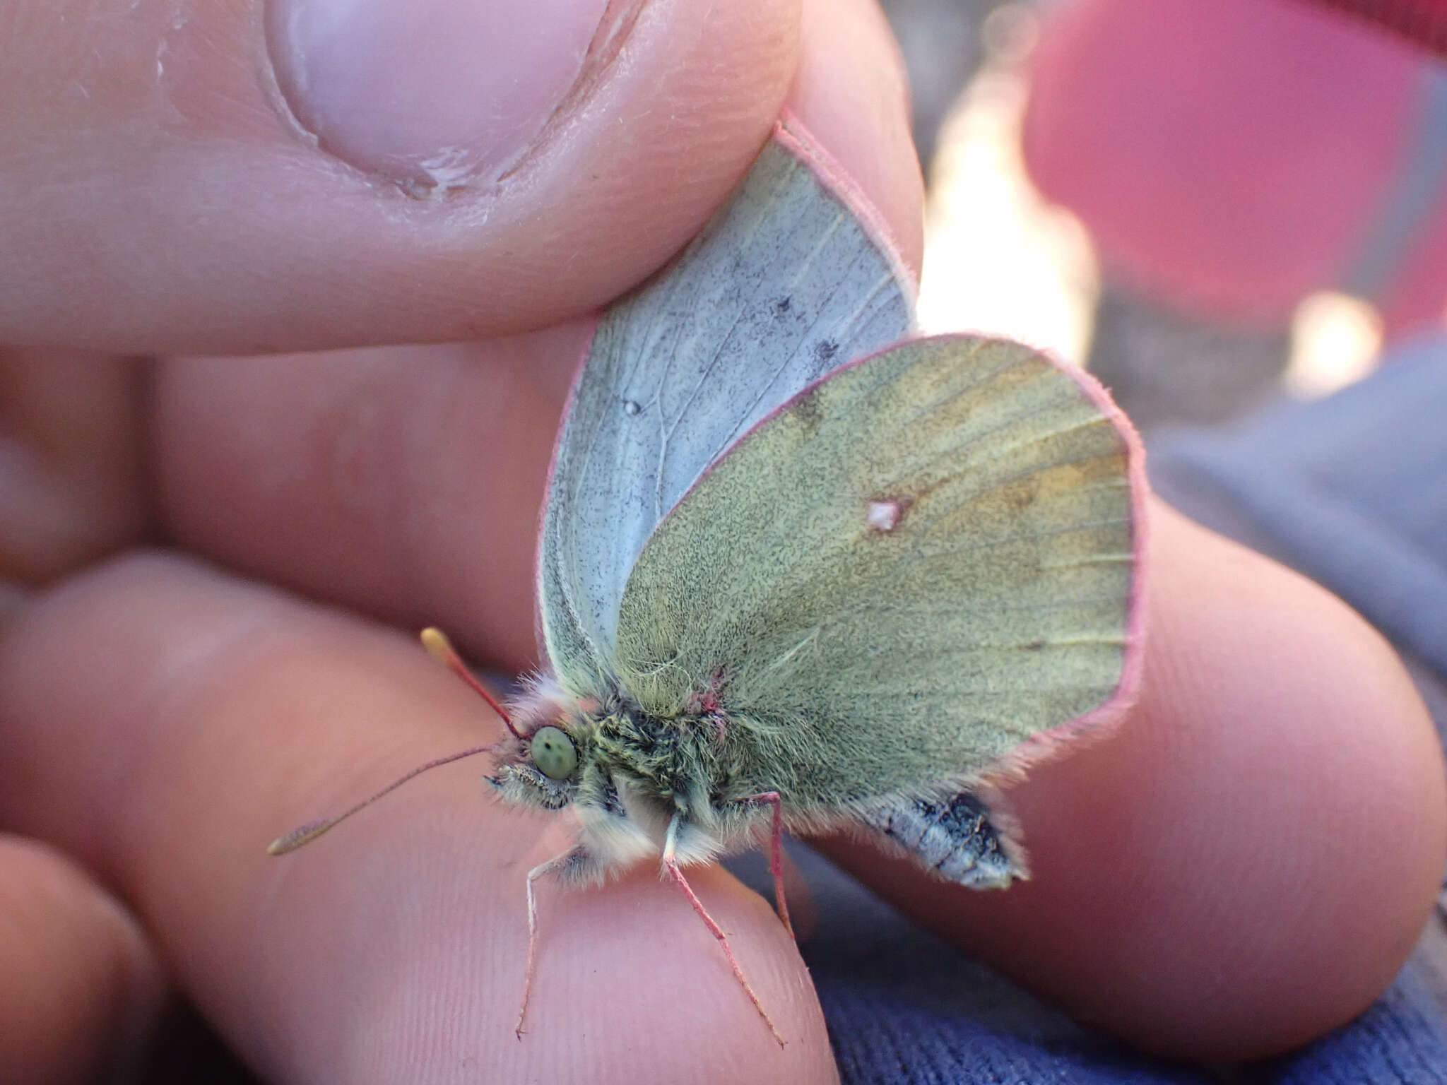
<svg viewBox="0 0 1447 1085">
<path fill-rule="evenodd" d="M 162 367 L 162 515 L 188 548 L 473 658 L 535 663 L 532 553 L 592 333 Z"/>
</svg>

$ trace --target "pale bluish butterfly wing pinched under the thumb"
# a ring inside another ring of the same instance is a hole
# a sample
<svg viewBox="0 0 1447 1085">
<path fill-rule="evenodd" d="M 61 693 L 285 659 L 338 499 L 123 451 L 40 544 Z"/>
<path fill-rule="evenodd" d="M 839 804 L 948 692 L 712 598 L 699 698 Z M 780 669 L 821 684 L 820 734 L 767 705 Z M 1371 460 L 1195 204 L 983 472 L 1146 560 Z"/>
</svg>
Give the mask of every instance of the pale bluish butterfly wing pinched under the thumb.
<svg viewBox="0 0 1447 1085">
<path fill-rule="evenodd" d="M 780 126 L 699 239 L 602 317 L 573 389 L 538 571 L 564 686 L 598 689 L 628 571 L 703 470 L 822 375 L 901 339 L 910 307 L 887 243 Z"/>
</svg>

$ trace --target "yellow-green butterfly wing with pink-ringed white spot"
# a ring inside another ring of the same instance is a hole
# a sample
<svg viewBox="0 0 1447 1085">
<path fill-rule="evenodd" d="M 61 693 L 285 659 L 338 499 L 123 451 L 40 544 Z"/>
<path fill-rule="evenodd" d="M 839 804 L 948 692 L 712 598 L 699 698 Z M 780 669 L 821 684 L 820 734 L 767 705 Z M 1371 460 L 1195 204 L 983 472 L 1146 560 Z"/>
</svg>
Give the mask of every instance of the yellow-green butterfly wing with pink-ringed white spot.
<svg viewBox="0 0 1447 1085">
<path fill-rule="evenodd" d="M 625 694 L 658 716 L 713 697 L 731 790 L 805 816 L 949 799 L 1026 760 L 1134 681 L 1140 467 L 1106 402 L 1027 347 L 962 336 L 812 386 L 642 548 L 612 661 Z"/>
</svg>

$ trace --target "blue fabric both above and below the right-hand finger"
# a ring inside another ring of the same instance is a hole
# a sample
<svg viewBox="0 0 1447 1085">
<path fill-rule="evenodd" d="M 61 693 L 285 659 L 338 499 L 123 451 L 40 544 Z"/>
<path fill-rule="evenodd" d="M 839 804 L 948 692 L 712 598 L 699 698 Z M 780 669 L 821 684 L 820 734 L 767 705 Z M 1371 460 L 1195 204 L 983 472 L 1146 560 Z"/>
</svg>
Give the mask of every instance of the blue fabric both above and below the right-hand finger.
<svg viewBox="0 0 1447 1085">
<path fill-rule="evenodd" d="M 1150 463 L 1172 503 L 1351 602 L 1425 663 L 1424 681 L 1447 677 L 1447 339 L 1417 343 L 1330 399 L 1176 435 L 1152 447 Z M 1301 1052 L 1171 1065 L 1069 1021 L 822 859 L 794 855 L 819 903 L 803 952 L 845 1085 L 1447 1085 L 1447 982 L 1422 953 L 1366 1014 Z M 767 882 L 761 865 L 741 874 Z"/>
</svg>

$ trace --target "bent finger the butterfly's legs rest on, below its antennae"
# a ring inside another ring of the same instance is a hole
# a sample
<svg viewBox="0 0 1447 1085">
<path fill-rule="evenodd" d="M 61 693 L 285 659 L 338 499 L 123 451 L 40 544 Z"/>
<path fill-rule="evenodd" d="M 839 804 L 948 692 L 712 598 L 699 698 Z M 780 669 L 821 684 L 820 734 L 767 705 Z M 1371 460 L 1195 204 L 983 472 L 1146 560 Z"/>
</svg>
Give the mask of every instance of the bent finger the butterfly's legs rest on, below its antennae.
<svg viewBox="0 0 1447 1085">
<path fill-rule="evenodd" d="M 609 1082 L 647 1066 L 658 1081 L 832 1081 L 803 963 L 719 871 L 695 888 L 783 1050 L 653 871 L 540 891 L 518 1042 L 524 877 L 563 841 L 485 799 L 476 762 L 265 855 L 291 825 L 475 744 L 479 716 L 395 634 L 195 563 L 132 558 L 38 597 L 0 639 L 0 817 L 114 884 L 268 1078 Z"/>
</svg>

